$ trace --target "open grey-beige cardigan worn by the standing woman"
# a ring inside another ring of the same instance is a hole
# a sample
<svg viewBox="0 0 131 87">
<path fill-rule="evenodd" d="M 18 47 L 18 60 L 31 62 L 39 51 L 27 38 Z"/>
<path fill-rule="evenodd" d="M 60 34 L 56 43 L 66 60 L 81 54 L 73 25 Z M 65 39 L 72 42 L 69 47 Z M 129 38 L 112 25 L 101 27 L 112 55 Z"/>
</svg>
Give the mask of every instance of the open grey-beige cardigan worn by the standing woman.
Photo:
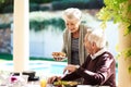
<svg viewBox="0 0 131 87">
<path fill-rule="evenodd" d="M 80 59 L 80 65 L 84 63 L 87 52 L 84 48 L 84 36 L 87 33 L 87 27 L 84 25 L 80 25 L 80 37 L 79 37 L 79 59 Z M 63 32 L 63 48 L 62 52 L 67 54 L 68 63 L 71 64 L 71 33 L 69 29 L 64 29 Z"/>
</svg>

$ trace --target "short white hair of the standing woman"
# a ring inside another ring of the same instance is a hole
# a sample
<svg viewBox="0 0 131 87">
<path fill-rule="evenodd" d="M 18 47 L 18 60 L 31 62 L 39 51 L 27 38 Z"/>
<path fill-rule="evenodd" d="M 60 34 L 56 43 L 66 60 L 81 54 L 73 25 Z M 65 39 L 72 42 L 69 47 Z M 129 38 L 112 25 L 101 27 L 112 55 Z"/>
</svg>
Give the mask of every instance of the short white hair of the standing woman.
<svg viewBox="0 0 131 87">
<path fill-rule="evenodd" d="M 63 12 L 63 20 L 81 21 L 82 12 L 76 8 L 69 8 Z"/>
</svg>

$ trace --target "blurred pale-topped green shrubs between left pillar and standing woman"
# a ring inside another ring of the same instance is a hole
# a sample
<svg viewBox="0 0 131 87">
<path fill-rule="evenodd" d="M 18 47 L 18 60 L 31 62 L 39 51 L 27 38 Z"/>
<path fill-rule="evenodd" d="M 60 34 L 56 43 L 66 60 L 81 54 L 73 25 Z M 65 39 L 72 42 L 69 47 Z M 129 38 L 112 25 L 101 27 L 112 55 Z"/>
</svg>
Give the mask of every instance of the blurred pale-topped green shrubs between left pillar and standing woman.
<svg viewBox="0 0 131 87">
<path fill-rule="evenodd" d="M 46 15 L 46 16 L 45 16 Z M 64 21 L 55 14 L 51 13 L 43 13 L 43 12 L 33 12 L 29 16 L 29 28 L 35 32 L 39 32 L 41 29 L 47 29 L 47 27 L 51 25 L 53 27 L 58 27 L 60 30 L 64 29 Z"/>
</svg>

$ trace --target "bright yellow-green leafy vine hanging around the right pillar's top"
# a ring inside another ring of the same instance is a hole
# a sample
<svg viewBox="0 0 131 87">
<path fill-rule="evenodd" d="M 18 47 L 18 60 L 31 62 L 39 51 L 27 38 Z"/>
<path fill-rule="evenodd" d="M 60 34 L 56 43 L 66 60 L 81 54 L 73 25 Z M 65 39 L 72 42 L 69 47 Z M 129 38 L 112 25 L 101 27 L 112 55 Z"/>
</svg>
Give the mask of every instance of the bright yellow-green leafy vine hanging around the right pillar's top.
<svg viewBox="0 0 131 87">
<path fill-rule="evenodd" d="M 131 13 L 131 4 L 128 3 L 128 1 L 129 0 L 104 0 L 106 7 L 97 14 L 98 18 L 103 20 L 103 28 L 106 28 L 107 21 L 114 18 L 114 23 L 123 24 L 126 35 L 131 33 L 131 17 L 128 16 Z"/>
</svg>

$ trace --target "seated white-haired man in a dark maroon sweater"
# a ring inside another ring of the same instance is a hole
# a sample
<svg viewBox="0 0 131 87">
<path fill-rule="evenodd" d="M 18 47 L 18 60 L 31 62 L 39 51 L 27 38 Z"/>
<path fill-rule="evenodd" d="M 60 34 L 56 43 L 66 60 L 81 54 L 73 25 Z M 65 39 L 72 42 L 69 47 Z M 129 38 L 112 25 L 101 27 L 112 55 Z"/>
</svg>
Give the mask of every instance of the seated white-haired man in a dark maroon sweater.
<svg viewBox="0 0 131 87">
<path fill-rule="evenodd" d="M 102 29 L 94 29 L 90 35 L 85 35 L 84 46 L 90 53 L 86 61 L 81 65 L 68 65 L 63 72 L 68 71 L 61 80 L 74 80 L 84 78 L 84 85 L 99 85 L 116 87 L 116 62 L 106 47 L 105 34 Z M 55 79 L 55 77 L 52 77 Z M 48 83 L 52 83 L 52 78 Z"/>
</svg>

